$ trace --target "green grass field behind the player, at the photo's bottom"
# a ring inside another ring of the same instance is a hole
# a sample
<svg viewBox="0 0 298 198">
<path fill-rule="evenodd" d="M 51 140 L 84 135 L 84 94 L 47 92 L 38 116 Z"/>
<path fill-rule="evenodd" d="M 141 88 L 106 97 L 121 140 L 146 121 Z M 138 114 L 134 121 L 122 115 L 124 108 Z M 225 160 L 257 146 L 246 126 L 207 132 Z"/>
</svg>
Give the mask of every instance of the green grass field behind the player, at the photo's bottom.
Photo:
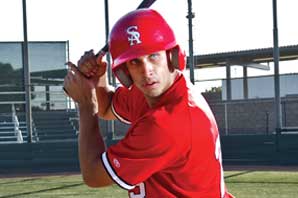
<svg viewBox="0 0 298 198">
<path fill-rule="evenodd" d="M 296 198 L 298 172 L 226 171 L 229 191 L 237 198 Z M 127 192 L 118 186 L 88 188 L 80 175 L 34 176 L 0 179 L 1 198 L 122 198 Z"/>
</svg>

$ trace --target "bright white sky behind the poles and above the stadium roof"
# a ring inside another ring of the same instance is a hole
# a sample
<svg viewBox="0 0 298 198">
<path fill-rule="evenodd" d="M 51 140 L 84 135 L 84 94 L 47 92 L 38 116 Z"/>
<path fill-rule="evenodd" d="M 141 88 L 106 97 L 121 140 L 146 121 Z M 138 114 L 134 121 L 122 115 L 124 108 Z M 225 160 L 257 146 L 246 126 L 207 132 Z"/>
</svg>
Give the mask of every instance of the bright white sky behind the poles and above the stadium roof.
<svg viewBox="0 0 298 198">
<path fill-rule="evenodd" d="M 109 0 L 110 28 L 140 2 Z M 298 1 L 277 5 L 279 46 L 298 44 Z M 152 8 L 188 53 L 187 0 L 157 0 Z M 195 55 L 273 47 L 272 0 L 193 0 L 192 11 Z M 76 62 L 84 51 L 105 44 L 104 0 L 27 0 L 27 25 L 29 41 L 69 40 L 70 60 Z M 0 41 L 23 40 L 22 0 L 0 0 L 0 26 Z"/>
</svg>

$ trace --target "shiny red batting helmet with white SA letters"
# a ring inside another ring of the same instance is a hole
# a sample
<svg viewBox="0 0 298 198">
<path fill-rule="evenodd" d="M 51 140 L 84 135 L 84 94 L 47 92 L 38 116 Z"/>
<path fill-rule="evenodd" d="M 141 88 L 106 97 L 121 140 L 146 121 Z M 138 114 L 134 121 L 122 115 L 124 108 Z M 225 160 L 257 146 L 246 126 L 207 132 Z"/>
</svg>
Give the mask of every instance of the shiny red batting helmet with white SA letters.
<svg viewBox="0 0 298 198">
<path fill-rule="evenodd" d="M 172 53 L 174 67 L 185 67 L 185 54 L 176 43 L 173 30 L 152 9 L 135 10 L 120 18 L 110 33 L 109 46 L 112 71 L 126 87 L 131 86 L 132 80 L 124 63 L 137 57 L 166 50 Z"/>
</svg>

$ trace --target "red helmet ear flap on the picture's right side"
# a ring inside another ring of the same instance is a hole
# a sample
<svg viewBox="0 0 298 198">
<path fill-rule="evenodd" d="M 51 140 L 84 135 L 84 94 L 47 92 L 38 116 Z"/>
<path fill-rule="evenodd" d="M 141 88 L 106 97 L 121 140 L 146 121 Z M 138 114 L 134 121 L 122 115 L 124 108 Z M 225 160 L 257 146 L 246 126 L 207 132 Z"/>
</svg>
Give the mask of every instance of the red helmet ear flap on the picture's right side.
<svg viewBox="0 0 298 198">
<path fill-rule="evenodd" d="M 181 50 L 179 45 L 170 49 L 170 64 L 174 66 L 175 69 L 184 70 L 186 66 L 186 56 L 185 52 Z"/>
</svg>

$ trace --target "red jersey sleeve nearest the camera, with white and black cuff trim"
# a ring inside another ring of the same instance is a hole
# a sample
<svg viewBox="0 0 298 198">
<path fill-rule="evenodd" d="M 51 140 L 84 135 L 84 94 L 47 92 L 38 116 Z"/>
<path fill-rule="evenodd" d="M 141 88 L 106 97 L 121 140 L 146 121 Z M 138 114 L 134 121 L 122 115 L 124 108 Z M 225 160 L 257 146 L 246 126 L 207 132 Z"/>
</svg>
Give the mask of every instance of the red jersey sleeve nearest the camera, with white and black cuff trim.
<svg viewBox="0 0 298 198">
<path fill-rule="evenodd" d="M 102 154 L 102 161 L 111 178 L 130 190 L 177 159 L 175 144 L 169 132 L 154 121 L 141 122 L 124 139 L 109 147 Z"/>
</svg>

